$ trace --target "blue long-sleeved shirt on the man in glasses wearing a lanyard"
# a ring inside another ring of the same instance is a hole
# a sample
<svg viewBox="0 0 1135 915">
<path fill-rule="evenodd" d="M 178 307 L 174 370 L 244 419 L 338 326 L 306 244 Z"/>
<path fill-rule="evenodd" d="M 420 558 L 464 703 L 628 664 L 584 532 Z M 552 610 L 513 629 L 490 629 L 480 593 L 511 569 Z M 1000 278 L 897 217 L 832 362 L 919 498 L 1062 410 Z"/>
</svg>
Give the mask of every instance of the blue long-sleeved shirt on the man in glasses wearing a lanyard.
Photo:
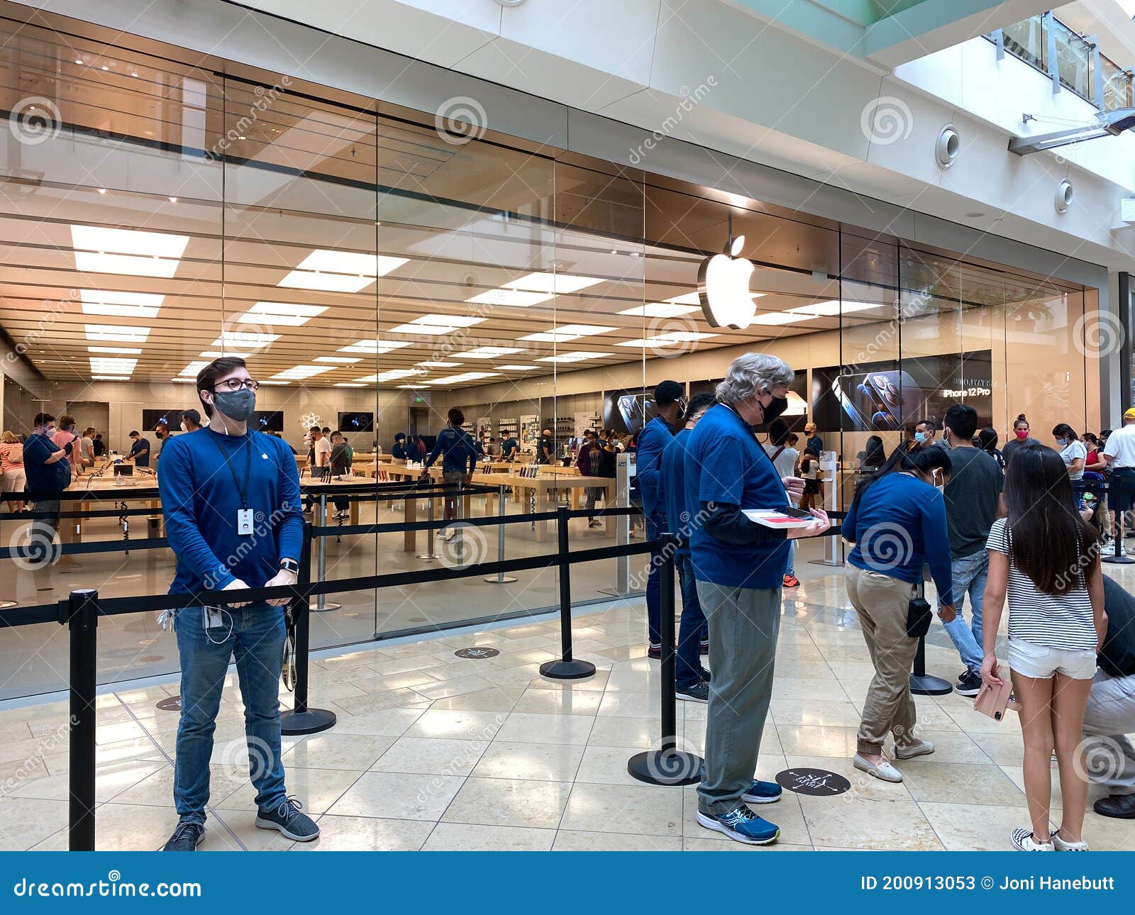
<svg viewBox="0 0 1135 915">
<path fill-rule="evenodd" d="M 254 520 L 253 534 L 241 535 L 241 493 L 221 452 L 243 484 L 247 448 L 247 507 Z M 234 578 L 260 588 L 279 571 L 281 559 L 299 561 L 300 475 L 284 439 L 255 431 L 220 435 L 207 426 L 170 439 L 161 455 L 161 512 L 177 556 L 170 594 L 220 590 Z"/>
</svg>

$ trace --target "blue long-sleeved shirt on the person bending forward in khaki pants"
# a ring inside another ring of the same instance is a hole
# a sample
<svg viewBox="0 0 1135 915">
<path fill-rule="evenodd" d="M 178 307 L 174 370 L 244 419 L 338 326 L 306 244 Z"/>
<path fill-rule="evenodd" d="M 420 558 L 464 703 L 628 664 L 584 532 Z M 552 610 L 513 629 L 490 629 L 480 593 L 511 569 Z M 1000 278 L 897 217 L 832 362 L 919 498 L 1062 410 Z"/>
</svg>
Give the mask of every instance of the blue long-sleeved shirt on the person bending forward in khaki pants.
<svg viewBox="0 0 1135 915">
<path fill-rule="evenodd" d="M 906 473 L 888 473 L 852 502 L 841 528 L 855 547 L 848 562 L 900 581 L 922 580 L 930 563 L 939 597 L 953 591 L 945 501 L 928 482 Z"/>
</svg>

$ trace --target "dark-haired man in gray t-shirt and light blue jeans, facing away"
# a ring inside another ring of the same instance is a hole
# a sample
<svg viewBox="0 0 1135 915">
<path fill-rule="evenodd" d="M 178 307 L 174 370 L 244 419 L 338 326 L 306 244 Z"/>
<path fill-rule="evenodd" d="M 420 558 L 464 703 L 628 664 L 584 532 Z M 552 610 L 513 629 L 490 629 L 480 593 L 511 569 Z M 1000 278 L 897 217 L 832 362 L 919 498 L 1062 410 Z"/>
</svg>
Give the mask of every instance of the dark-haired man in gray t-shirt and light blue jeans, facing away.
<svg viewBox="0 0 1135 915">
<path fill-rule="evenodd" d="M 976 696 L 982 685 L 982 598 L 990 568 L 985 540 L 1000 512 L 1003 482 L 997 461 L 973 446 L 976 430 L 977 411 L 974 408 L 955 404 L 945 411 L 942 435 L 950 447 L 952 470 L 942 495 L 953 571 L 951 603 L 957 615 L 942 622 L 966 665 L 953 687 L 961 696 Z M 966 626 L 961 615 L 967 594 L 973 616 L 970 626 Z"/>
</svg>

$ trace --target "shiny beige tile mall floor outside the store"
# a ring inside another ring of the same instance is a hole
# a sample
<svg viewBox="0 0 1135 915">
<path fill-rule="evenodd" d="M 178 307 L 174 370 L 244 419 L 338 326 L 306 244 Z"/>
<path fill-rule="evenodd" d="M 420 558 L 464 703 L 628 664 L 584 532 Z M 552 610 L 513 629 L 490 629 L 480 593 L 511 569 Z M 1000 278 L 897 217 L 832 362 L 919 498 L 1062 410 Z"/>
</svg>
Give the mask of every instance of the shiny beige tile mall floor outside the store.
<svg viewBox="0 0 1135 915">
<path fill-rule="evenodd" d="M 785 594 L 757 775 L 813 766 L 846 775 L 851 790 L 785 792 L 762 808 L 781 828 L 777 845 L 750 848 L 705 830 L 692 787 L 651 787 L 627 774 L 628 757 L 661 734 L 658 664 L 644 657 L 644 606 L 628 602 L 577 614 L 577 656 L 598 666 L 578 682 L 538 674 L 558 648 L 558 623 L 548 618 L 317 657 L 312 704 L 339 720 L 327 732 L 285 738 L 284 757 L 289 790 L 322 830 L 309 845 L 253 826 L 242 706 L 229 685 L 201 848 L 1008 849 L 1010 830 L 1028 823 L 1015 716 L 995 723 L 970 699 L 917 697 L 919 732 L 936 752 L 899 763 L 901 784 L 857 772 L 850 756 L 872 666 L 842 570 L 805 563 L 798 572 L 805 581 Z M 1135 586 L 1135 573 L 1127 577 Z M 928 669 L 952 679 L 960 665 L 940 627 L 930 640 Z M 455 656 L 473 645 L 499 654 Z M 170 680 L 99 699 L 101 849 L 158 848 L 176 821 L 177 713 L 155 707 L 176 691 Z M 701 749 L 705 713 L 678 704 L 680 742 L 690 749 Z M 65 716 L 64 703 L 0 711 L 0 849 L 67 847 Z M 1053 792 L 1059 804 L 1056 780 Z M 1135 821 L 1090 812 L 1084 834 L 1096 849 L 1135 848 Z"/>
</svg>

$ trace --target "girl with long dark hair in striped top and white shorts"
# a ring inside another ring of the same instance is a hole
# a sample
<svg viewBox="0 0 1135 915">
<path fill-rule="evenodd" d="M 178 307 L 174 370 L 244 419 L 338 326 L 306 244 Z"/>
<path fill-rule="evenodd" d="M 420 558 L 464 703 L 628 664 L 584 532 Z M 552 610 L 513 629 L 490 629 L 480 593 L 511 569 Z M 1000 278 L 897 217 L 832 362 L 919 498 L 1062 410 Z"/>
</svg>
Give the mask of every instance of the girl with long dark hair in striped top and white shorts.
<svg viewBox="0 0 1135 915">
<path fill-rule="evenodd" d="M 1040 444 L 1018 448 L 1009 462 L 1004 504 L 1008 518 L 993 522 L 986 543 L 982 679 L 1002 683 L 997 631 L 1008 597 L 1008 662 L 1022 706 L 1025 798 L 1033 821 L 1032 830 L 1014 830 L 1012 843 L 1023 851 L 1086 851 L 1081 728 L 1095 653 L 1108 631 L 1099 535 L 1076 511 L 1060 455 Z M 1050 831 L 1053 747 L 1063 817 Z"/>
</svg>

